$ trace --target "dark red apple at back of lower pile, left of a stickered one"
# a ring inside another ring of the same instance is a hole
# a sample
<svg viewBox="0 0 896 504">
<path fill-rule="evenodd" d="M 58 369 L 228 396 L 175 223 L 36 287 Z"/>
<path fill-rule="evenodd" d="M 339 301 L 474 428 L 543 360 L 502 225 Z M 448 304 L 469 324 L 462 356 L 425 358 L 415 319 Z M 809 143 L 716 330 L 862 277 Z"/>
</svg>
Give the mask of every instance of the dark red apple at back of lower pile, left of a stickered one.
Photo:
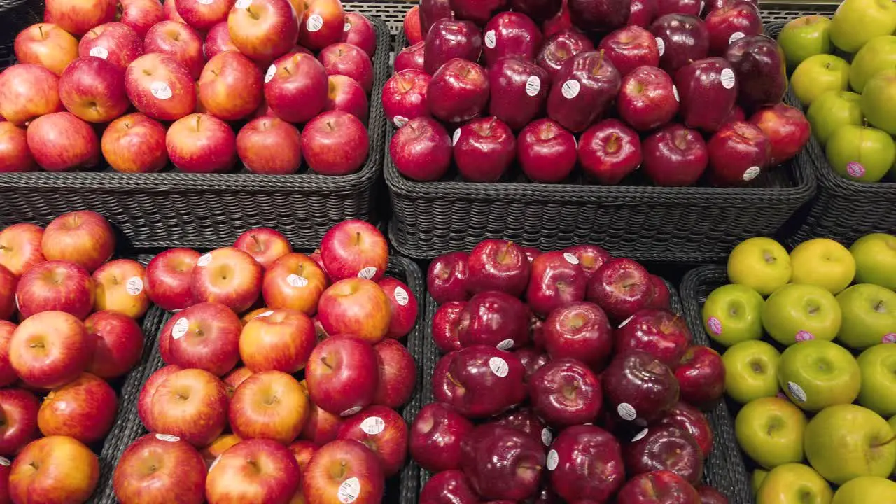
<svg viewBox="0 0 896 504">
<path fill-rule="evenodd" d="M 529 284 L 531 267 L 522 248 L 504 239 L 484 239 L 467 258 L 467 291 L 502 291 L 521 296 Z"/>
</svg>

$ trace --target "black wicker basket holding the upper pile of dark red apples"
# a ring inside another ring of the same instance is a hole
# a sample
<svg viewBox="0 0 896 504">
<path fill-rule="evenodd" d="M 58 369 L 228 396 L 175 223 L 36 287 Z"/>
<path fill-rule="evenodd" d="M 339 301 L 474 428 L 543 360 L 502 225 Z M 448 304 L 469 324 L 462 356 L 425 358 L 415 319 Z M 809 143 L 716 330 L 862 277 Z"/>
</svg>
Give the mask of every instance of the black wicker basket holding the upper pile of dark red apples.
<svg viewBox="0 0 896 504">
<path fill-rule="evenodd" d="M 396 47 L 403 45 L 399 33 Z M 417 182 L 395 169 L 388 152 L 395 127 L 386 130 L 389 232 L 402 256 L 428 259 L 500 238 L 537 248 L 593 242 L 641 261 L 716 262 L 744 237 L 779 233 L 815 190 L 806 150 L 753 187 L 537 184 L 517 169 L 494 184 L 452 175 Z"/>
</svg>

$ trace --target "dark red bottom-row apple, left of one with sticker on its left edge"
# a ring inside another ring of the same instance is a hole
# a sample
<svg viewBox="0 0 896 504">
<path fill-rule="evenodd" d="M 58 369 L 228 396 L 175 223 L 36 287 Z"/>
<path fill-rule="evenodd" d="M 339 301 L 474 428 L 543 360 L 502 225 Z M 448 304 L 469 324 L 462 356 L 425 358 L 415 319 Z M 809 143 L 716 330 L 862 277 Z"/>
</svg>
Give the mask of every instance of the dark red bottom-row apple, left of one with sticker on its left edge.
<svg viewBox="0 0 896 504">
<path fill-rule="evenodd" d="M 461 443 L 461 468 L 487 500 L 524 500 L 538 491 L 544 446 L 521 430 L 477 427 Z"/>
</svg>

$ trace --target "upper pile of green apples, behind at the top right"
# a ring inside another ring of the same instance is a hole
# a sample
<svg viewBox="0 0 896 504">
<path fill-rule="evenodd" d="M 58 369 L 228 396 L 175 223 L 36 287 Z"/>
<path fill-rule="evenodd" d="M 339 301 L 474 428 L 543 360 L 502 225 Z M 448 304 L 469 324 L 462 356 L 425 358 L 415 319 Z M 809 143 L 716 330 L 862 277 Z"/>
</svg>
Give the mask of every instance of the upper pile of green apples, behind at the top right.
<svg viewBox="0 0 896 504">
<path fill-rule="evenodd" d="M 815 138 L 849 180 L 896 179 L 894 31 L 892 0 L 845 0 L 832 19 L 802 17 L 778 36 Z"/>
</svg>

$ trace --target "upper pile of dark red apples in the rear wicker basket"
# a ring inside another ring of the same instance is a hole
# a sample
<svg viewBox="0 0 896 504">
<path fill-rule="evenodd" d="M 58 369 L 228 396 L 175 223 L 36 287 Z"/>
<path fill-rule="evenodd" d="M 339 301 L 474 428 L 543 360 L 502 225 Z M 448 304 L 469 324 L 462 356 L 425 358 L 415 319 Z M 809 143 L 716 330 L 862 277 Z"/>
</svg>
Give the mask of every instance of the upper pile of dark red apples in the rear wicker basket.
<svg viewBox="0 0 896 504">
<path fill-rule="evenodd" d="M 421 0 L 405 32 L 407 178 L 744 186 L 809 139 L 754 0 Z"/>
</svg>

